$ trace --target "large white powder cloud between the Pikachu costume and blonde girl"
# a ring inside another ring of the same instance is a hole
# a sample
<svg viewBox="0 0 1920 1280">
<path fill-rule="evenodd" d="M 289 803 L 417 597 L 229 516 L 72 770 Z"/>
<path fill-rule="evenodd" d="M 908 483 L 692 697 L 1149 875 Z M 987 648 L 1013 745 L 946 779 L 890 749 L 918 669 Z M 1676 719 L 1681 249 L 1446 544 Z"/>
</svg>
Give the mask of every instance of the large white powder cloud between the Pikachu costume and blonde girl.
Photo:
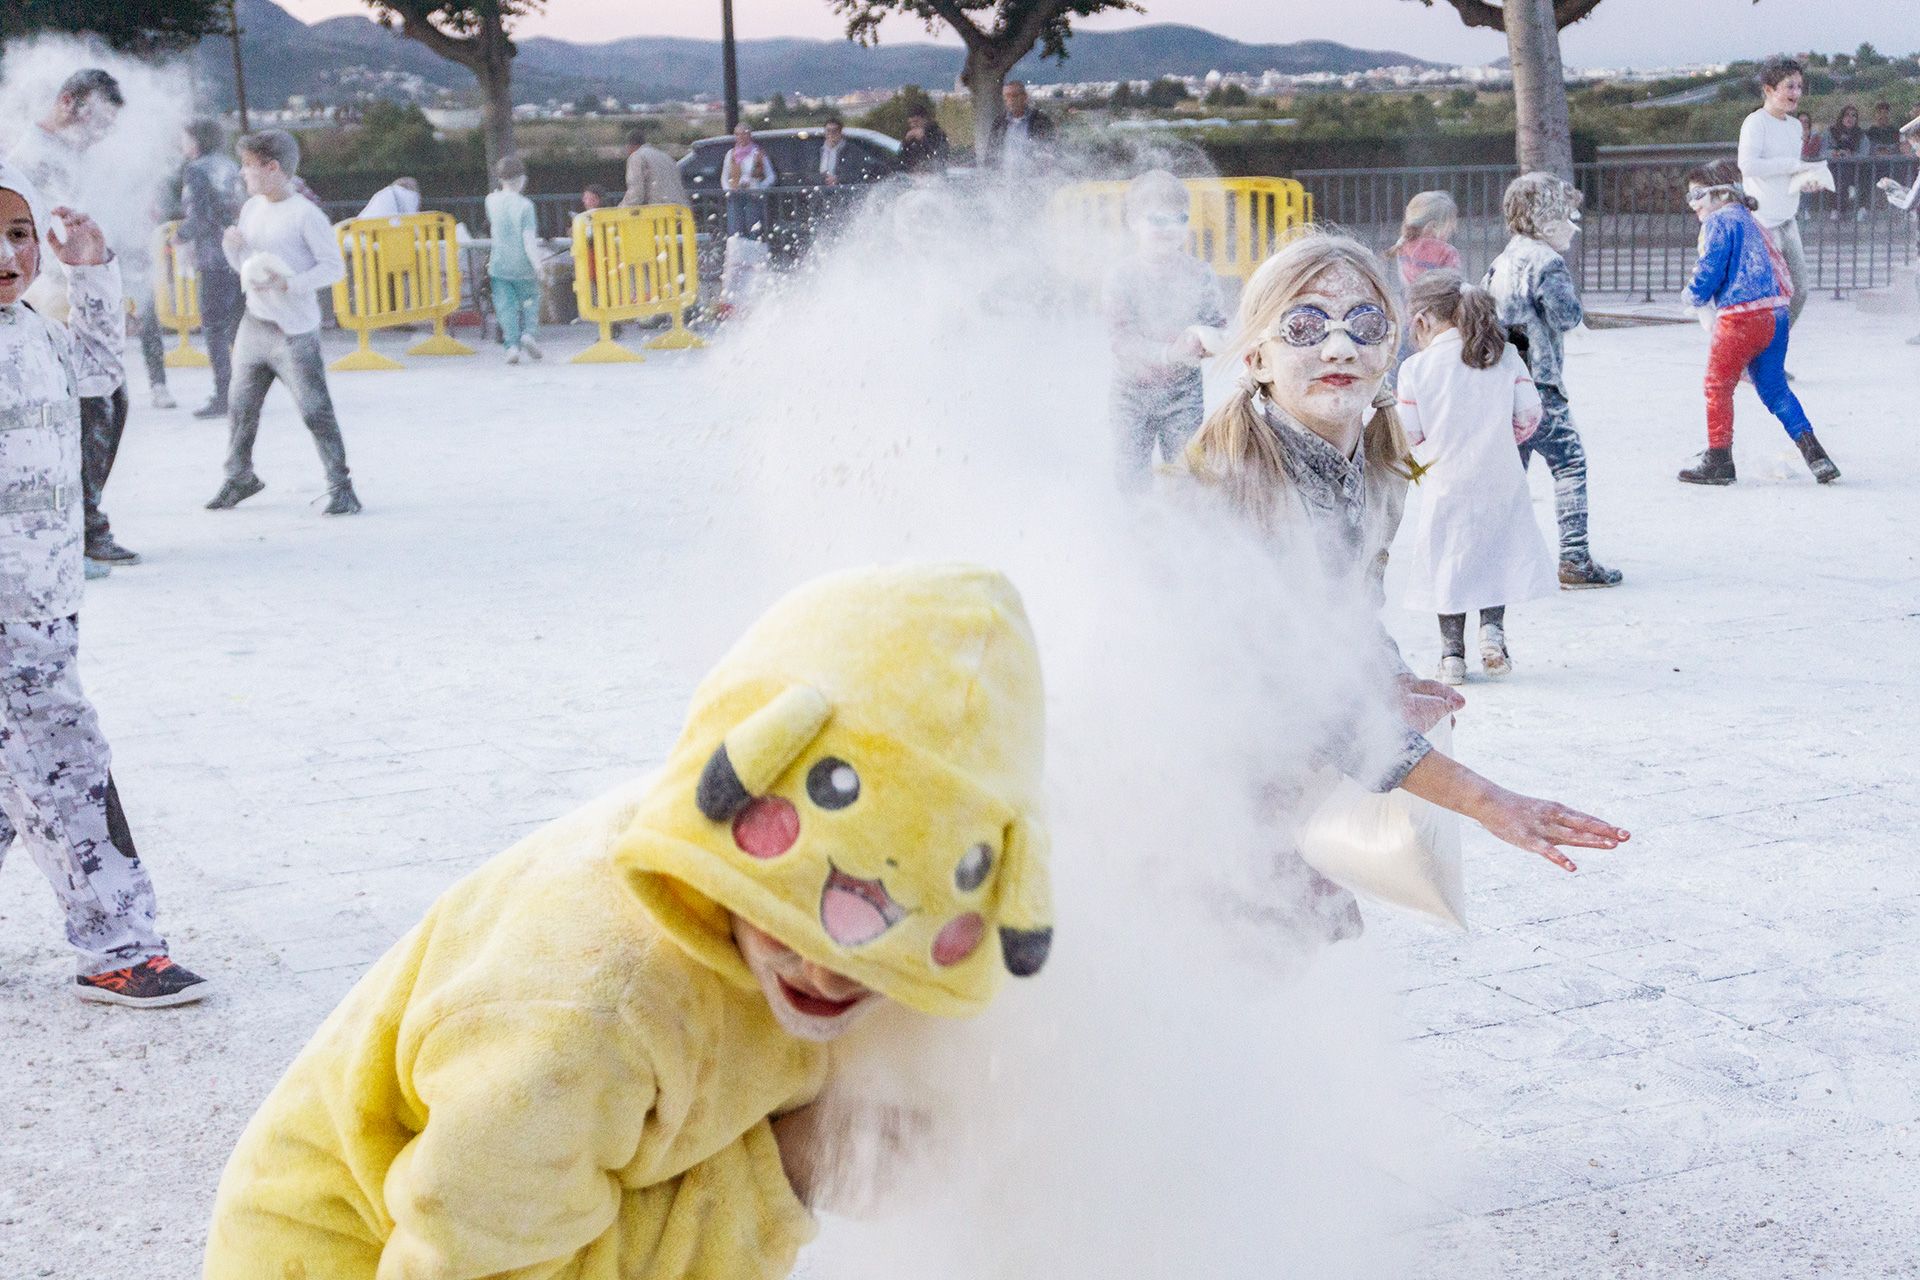
<svg viewBox="0 0 1920 1280">
<path fill-rule="evenodd" d="M 1405 1272 L 1425 1144 L 1392 977 L 1308 938 L 1286 856 L 1331 723 L 1390 733 L 1354 677 L 1375 624 L 1311 557 L 1121 497 L 1096 299 L 1125 251 L 1037 203 L 897 190 L 705 363 L 687 447 L 733 464 L 710 599 L 676 608 L 712 628 L 691 647 L 820 572 L 962 558 L 1012 576 L 1048 679 L 1054 956 L 970 1023 L 856 1034 L 839 1105 L 904 1113 L 912 1159 L 881 1165 L 881 1217 L 828 1219 L 818 1280 Z"/>
</svg>

